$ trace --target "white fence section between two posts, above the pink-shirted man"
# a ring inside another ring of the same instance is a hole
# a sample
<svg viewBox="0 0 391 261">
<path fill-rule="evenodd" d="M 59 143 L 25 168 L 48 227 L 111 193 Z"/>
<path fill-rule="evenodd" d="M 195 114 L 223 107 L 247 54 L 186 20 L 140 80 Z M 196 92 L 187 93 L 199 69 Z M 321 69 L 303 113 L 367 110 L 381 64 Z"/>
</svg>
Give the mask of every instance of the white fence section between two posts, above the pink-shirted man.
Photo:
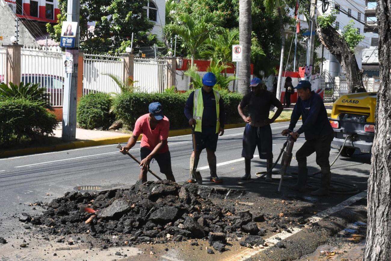
<svg viewBox="0 0 391 261">
<path fill-rule="evenodd" d="M 163 92 L 166 86 L 167 62 L 162 59 L 135 58 L 133 78 L 139 92 Z"/>
</svg>

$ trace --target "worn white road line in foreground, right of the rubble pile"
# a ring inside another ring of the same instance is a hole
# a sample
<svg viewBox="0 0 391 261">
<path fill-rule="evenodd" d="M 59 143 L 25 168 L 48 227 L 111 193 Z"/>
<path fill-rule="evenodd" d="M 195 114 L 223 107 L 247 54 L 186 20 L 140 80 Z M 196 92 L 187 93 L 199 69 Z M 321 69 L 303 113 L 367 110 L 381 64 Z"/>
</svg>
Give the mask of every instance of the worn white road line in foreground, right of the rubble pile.
<svg viewBox="0 0 391 261">
<path fill-rule="evenodd" d="M 360 199 L 365 198 L 366 196 L 367 196 L 367 192 L 365 190 L 359 194 L 352 196 L 351 198 L 346 199 L 345 201 L 339 203 L 338 205 L 335 205 L 334 207 L 328 208 L 328 209 L 310 217 L 309 220 L 312 223 L 318 222 L 318 221 L 322 220 L 323 218 L 352 205 L 356 201 L 359 201 Z M 302 228 L 289 228 L 289 230 L 291 230 L 292 233 L 282 231 L 281 233 L 275 234 L 274 236 L 271 236 L 268 239 L 265 239 L 267 246 L 264 246 L 262 248 L 259 248 L 259 247 L 247 248 L 246 250 L 240 252 L 239 254 L 232 256 L 229 259 L 226 259 L 226 261 L 244 261 L 244 260 L 268 249 L 269 247 L 274 246 L 276 243 L 278 243 L 278 241 L 280 241 L 280 240 L 277 240 L 276 237 L 280 237 L 281 240 L 287 239 L 288 237 L 300 232 L 303 229 Z"/>
</svg>

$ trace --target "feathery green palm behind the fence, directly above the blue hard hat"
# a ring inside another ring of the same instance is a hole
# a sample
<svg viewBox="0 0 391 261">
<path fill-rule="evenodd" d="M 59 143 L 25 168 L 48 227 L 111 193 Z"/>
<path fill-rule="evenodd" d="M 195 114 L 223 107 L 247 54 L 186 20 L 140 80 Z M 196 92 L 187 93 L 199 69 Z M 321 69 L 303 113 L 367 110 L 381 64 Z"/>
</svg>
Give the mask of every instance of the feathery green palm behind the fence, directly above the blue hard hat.
<svg viewBox="0 0 391 261">
<path fill-rule="evenodd" d="M 203 16 L 197 14 L 181 14 L 179 23 L 165 25 L 165 30 L 172 34 L 178 34 L 192 58 L 191 66 L 194 66 L 194 57 L 198 48 L 208 39 L 215 28 L 215 18 L 211 13 Z"/>
</svg>

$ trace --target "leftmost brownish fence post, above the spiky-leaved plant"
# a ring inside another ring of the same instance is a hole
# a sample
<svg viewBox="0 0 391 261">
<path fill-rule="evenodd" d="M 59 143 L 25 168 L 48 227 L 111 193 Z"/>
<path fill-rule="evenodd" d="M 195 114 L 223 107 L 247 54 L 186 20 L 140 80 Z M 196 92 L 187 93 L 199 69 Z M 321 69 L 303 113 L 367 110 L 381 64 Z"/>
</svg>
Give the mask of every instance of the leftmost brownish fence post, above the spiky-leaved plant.
<svg viewBox="0 0 391 261">
<path fill-rule="evenodd" d="M 20 66 L 20 57 L 21 57 L 21 48 L 23 45 L 20 44 L 10 44 L 4 45 L 7 48 L 7 58 L 6 58 L 6 71 L 7 82 L 12 82 L 14 84 L 19 84 L 22 80 L 22 72 Z"/>
</svg>

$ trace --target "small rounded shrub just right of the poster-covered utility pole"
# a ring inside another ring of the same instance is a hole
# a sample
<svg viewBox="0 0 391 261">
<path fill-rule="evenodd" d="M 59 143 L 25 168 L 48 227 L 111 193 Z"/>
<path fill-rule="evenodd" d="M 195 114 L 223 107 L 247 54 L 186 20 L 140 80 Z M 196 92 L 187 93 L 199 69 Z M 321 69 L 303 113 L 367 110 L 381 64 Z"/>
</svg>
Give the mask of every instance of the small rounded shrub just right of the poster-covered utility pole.
<svg viewBox="0 0 391 261">
<path fill-rule="evenodd" d="M 83 129 L 103 127 L 107 129 L 113 122 L 110 112 L 111 96 L 106 93 L 89 93 L 77 103 L 77 125 Z"/>
</svg>

